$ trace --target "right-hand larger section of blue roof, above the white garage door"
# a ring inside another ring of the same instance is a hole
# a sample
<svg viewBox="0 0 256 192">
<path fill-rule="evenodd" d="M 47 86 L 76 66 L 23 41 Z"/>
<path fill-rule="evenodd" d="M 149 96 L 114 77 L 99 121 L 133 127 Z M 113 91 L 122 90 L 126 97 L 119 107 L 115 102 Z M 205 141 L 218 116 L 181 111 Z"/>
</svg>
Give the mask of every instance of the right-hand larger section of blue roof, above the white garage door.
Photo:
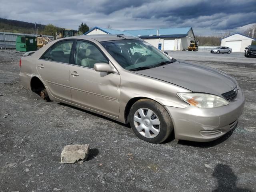
<svg viewBox="0 0 256 192">
<path fill-rule="evenodd" d="M 158 32 L 159 36 L 178 37 L 178 36 L 187 35 L 190 29 L 192 28 L 185 27 L 185 28 L 164 28 L 164 29 L 141 29 L 141 30 L 126 30 L 126 32 L 129 32 L 138 37 L 146 37 L 146 36 L 152 37 L 152 36 L 156 36 L 157 30 L 159 30 Z"/>
</svg>

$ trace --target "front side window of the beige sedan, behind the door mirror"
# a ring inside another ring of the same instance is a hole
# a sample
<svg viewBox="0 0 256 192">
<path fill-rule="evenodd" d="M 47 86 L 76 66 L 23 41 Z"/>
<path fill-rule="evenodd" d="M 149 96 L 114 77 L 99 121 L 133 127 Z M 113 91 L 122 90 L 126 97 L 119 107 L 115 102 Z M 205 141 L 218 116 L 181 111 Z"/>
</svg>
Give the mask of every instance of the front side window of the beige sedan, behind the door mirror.
<svg viewBox="0 0 256 192">
<path fill-rule="evenodd" d="M 94 64 L 96 63 L 108 63 L 108 60 L 93 44 L 84 41 L 77 41 L 74 64 L 94 68 Z"/>
</svg>

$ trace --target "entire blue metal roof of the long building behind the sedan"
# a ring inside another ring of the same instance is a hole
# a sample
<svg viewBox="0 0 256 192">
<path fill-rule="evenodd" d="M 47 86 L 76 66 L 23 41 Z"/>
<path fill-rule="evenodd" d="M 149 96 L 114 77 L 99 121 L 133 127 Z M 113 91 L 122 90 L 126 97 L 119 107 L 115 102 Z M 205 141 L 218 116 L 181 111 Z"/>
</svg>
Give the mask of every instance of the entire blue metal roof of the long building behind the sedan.
<svg viewBox="0 0 256 192">
<path fill-rule="evenodd" d="M 94 27 L 88 32 L 84 33 L 84 35 L 90 33 L 94 29 L 102 30 L 103 32 L 107 34 L 119 34 L 119 35 L 127 35 L 127 36 L 133 36 L 133 37 L 139 37 L 139 38 L 159 38 L 159 37 L 185 37 L 188 35 L 189 30 L 191 27 L 185 27 L 185 28 L 163 28 L 163 29 L 141 29 L 141 30 L 114 30 L 114 29 L 107 29 L 102 27 Z M 157 36 L 157 30 L 158 36 Z M 194 35 L 194 32 L 192 30 L 192 33 Z"/>
</svg>

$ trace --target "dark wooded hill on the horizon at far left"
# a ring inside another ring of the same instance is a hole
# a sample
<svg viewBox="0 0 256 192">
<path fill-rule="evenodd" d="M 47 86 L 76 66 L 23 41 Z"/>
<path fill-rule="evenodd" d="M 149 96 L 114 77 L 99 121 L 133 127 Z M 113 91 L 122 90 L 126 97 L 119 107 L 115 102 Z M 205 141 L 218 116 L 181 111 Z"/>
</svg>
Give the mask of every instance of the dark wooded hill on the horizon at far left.
<svg viewBox="0 0 256 192">
<path fill-rule="evenodd" d="M 43 33 L 46 25 L 37 24 L 38 27 L 38 34 Z M 61 28 L 57 28 L 58 31 Z M 10 20 L 0 18 L 0 31 L 5 32 L 12 32 L 12 33 L 26 33 L 26 34 L 36 34 L 36 28 L 34 23 L 24 22 L 24 21 L 17 21 L 17 20 Z"/>
</svg>

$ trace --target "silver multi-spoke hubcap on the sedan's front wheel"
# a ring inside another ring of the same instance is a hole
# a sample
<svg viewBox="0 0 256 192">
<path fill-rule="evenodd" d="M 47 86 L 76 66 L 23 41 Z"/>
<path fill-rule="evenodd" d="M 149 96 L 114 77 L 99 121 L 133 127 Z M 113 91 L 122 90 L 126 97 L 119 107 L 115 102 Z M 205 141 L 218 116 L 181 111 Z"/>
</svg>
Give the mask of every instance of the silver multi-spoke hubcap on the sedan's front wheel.
<svg viewBox="0 0 256 192">
<path fill-rule="evenodd" d="M 133 117 L 137 131 L 146 138 L 154 138 L 160 132 L 160 120 L 158 116 L 148 108 L 138 109 Z"/>
</svg>

